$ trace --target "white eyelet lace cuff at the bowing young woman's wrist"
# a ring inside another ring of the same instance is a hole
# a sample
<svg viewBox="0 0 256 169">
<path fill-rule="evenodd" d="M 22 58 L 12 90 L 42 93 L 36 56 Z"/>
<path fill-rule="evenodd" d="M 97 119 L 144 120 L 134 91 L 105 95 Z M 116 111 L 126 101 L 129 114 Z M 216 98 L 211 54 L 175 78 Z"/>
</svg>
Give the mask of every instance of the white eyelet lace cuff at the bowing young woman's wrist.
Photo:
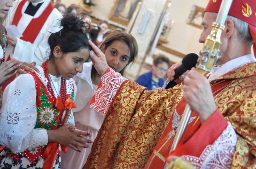
<svg viewBox="0 0 256 169">
<path fill-rule="evenodd" d="M 48 135 L 46 129 L 33 129 L 29 142 L 28 150 L 45 146 L 48 143 Z"/>
</svg>

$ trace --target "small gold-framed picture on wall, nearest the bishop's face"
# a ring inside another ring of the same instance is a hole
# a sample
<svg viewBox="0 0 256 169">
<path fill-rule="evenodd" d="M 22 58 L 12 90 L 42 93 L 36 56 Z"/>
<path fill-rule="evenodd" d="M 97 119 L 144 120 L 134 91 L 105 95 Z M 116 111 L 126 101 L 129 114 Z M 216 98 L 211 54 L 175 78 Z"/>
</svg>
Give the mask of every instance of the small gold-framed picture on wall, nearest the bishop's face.
<svg viewBox="0 0 256 169">
<path fill-rule="evenodd" d="M 202 7 L 194 5 L 187 19 L 187 24 L 203 29 L 201 25 L 204 15 L 204 9 Z"/>
</svg>

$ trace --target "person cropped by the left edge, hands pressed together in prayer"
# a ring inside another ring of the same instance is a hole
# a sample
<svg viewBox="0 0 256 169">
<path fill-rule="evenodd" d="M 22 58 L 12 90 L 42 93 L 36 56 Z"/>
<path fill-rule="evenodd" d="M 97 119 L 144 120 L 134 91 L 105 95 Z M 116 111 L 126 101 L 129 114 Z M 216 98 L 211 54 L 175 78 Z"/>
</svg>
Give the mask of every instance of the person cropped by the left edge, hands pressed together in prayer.
<svg viewBox="0 0 256 169">
<path fill-rule="evenodd" d="M 4 85 L 9 79 L 15 76 L 15 71 L 19 67 L 19 61 L 11 59 L 8 62 L 5 61 L 5 50 L 6 50 L 6 36 L 7 32 L 4 28 L 4 21 L 11 7 L 13 6 L 13 0 L 1 0 L 0 1 L 0 91 L 1 86 Z M 0 92 L 0 107 L 1 107 L 1 92 Z"/>
</svg>

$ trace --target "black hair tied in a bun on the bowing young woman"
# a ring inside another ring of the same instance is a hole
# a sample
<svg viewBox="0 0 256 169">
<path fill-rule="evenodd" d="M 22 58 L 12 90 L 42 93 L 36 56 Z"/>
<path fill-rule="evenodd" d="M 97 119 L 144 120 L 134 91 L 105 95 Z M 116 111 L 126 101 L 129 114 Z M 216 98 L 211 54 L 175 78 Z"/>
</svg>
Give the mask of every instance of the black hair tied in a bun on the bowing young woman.
<svg viewBox="0 0 256 169">
<path fill-rule="evenodd" d="M 74 14 L 65 15 L 60 22 L 63 28 L 48 38 L 51 49 L 49 60 L 53 59 L 53 50 L 56 46 L 60 47 L 62 53 L 77 52 L 82 48 L 91 49 L 86 34 L 89 25 L 86 24 L 87 22 L 83 22 Z"/>
</svg>

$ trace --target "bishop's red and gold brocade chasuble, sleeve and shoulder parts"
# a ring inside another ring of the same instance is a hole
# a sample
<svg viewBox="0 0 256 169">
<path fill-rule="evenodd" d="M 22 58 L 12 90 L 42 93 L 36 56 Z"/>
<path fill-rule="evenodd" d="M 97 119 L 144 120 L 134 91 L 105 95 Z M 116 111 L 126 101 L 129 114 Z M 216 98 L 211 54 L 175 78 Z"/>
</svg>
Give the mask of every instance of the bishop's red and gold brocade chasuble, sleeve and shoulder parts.
<svg viewBox="0 0 256 169">
<path fill-rule="evenodd" d="M 214 95 L 218 110 L 237 133 L 232 168 L 256 168 L 255 67 L 256 63 L 246 64 L 211 82 L 212 86 L 219 85 Z M 157 151 L 154 148 L 171 117 L 173 119 L 182 99 L 181 88 L 179 85 L 147 91 L 134 82 L 124 82 L 108 109 L 85 168 L 143 168 L 152 152 Z M 191 123 L 196 122 L 195 119 Z M 216 128 L 214 122 L 209 124 Z M 194 148 L 191 145 L 191 149 Z M 169 150 L 165 153 L 163 157 Z M 151 166 L 156 167 L 159 166 Z"/>
</svg>

